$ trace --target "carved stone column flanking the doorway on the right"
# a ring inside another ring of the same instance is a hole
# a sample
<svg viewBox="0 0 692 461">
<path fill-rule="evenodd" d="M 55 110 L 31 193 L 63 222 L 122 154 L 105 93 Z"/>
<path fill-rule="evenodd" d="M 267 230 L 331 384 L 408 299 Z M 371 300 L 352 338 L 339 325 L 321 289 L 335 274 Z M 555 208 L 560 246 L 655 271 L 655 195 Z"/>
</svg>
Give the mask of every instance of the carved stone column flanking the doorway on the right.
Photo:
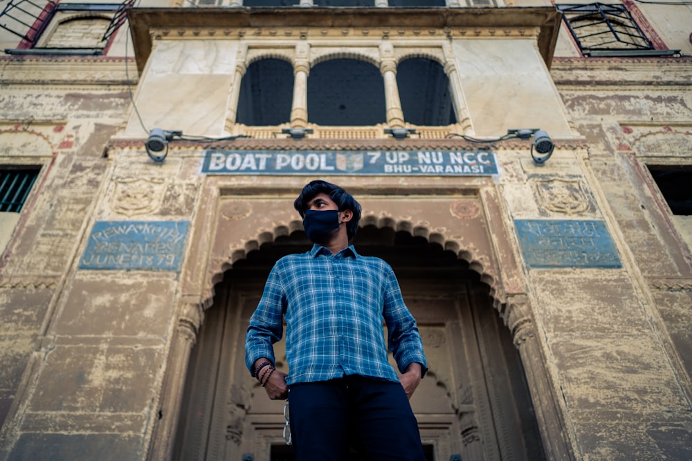
<svg viewBox="0 0 692 461">
<path fill-rule="evenodd" d="M 527 297 L 518 295 L 508 301 L 503 317 L 511 330 L 514 345 L 518 348 L 524 365 L 546 458 L 572 460 L 574 456 L 569 434 L 557 404 L 556 391 L 547 374 Z"/>
</svg>

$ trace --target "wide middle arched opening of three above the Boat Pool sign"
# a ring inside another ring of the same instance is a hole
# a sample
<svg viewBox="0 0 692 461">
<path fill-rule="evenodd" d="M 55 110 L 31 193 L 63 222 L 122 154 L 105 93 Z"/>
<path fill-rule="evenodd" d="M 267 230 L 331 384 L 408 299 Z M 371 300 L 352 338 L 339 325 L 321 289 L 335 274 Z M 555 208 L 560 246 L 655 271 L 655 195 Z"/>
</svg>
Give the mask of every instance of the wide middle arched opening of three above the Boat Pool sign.
<svg viewBox="0 0 692 461">
<path fill-rule="evenodd" d="M 324 126 L 365 126 L 387 121 L 379 68 L 358 59 L 331 59 L 310 70 L 308 121 Z"/>
</svg>

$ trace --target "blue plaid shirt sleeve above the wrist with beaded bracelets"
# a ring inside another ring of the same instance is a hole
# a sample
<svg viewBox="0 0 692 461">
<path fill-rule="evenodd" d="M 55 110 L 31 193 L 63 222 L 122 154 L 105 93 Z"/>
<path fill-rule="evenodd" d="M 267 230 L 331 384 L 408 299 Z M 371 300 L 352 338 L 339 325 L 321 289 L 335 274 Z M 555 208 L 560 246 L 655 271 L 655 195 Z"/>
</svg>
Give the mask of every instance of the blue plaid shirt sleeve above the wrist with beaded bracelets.
<svg viewBox="0 0 692 461">
<path fill-rule="evenodd" d="M 262 357 L 276 363 L 273 344 L 280 341 L 283 330 L 284 306 L 286 297 L 277 265 L 274 265 L 264 285 L 262 299 L 250 317 L 245 338 L 245 364 L 253 373 L 253 364 Z"/>
</svg>

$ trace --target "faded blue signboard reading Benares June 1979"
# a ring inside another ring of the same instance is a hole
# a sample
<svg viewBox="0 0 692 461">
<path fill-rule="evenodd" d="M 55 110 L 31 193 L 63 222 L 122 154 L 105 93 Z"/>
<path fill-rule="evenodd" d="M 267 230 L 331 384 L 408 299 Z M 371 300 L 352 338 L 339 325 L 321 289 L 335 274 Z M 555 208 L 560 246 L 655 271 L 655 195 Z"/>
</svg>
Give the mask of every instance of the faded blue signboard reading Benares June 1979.
<svg viewBox="0 0 692 461">
<path fill-rule="evenodd" d="M 80 269 L 178 271 L 190 221 L 98 221 Z"/>
</svg>

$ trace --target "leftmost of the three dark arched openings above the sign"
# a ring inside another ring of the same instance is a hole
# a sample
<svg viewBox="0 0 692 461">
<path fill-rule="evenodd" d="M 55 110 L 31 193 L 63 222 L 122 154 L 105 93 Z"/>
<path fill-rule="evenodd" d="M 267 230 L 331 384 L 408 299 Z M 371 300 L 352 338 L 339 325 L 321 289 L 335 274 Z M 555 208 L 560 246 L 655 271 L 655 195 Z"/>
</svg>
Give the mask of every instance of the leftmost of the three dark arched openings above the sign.
<svg viewBox="0 0 692 461">
<path fill-rule="evenodd" d="M 236 122 L 273 126 L 291 121 L 293 66 L 283 59 L 262 59 L 248 66 L 240 84 Z"/>
</svg>

